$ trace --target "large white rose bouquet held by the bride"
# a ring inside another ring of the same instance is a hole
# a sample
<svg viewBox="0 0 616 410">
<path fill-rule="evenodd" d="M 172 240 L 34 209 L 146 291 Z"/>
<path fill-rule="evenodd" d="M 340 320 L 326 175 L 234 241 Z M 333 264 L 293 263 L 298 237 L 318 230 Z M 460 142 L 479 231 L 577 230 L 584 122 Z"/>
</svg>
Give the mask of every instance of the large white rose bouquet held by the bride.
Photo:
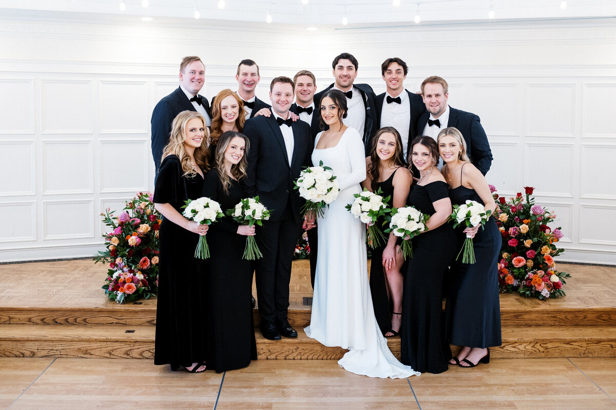
<svg viewBox="0 0 616 410">
<path fill-rule="evenodd" d="M 299 189 L 299 196 L 306 199 L 306 205 L 302 207 L 304 215 L 312 211 L 317 216 L 323 216 L 323 208 L 338 197 L 340 189 L 330 171 L 331 168 L 320 161 L 318 167 L 304 167 L 299 173 L 294 189 Z"/>
</svg>

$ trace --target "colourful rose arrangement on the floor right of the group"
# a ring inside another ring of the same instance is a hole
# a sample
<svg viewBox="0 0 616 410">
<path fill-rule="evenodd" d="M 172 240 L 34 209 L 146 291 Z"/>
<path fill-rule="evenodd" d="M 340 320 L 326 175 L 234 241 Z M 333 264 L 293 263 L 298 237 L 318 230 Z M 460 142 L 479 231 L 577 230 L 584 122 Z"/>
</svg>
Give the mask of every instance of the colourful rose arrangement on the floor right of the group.
<svg viewBox="0 0 616 410">
<path fill-rule="evenodd" d="M 554 257 L 564 252 L 556 243 L 564 236 L 561 228 L 551 228 L 556 215 L 535 204 L 533 187 L 524 187 L 506 200 L 490 191 L 498 204 L 496 225 L 503 237 L 498 283 L 501 292 L 518 292 L 527 298 L 548 299 L 565 296 L 562 286 L 571 275 L 556 269 Z"/>
</svg>

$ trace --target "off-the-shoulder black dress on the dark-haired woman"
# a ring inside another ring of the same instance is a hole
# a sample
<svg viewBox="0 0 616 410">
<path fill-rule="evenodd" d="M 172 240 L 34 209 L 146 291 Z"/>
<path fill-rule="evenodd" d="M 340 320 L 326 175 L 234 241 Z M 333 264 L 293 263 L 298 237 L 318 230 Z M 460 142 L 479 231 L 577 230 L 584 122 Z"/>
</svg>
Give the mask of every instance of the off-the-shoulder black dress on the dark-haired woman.
<svg viewBox="0 0 616 410">
<path fill-rule="evenodd" d="M 434 215 L 433 202 L 449 196 L 444 181 L 411 187 L 408 205 Z M 442 282 L 456 255 L 453 227 L 442 224 L 412 239 L 413 258 L 407 260 L 400 332 L 402 363 L 418 372 L 442 373 L 452 352 L 445 339 Z"/>
</svg>

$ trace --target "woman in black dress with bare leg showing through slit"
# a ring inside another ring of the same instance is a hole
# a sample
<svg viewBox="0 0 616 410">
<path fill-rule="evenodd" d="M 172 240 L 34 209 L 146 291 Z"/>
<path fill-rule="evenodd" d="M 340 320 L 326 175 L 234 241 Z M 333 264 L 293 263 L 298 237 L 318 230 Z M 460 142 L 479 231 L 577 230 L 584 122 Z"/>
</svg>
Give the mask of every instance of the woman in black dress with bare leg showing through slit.
<svg viewBox="0 0 616 410">
<path fill-rule="evenodd" d="M 404 161 L 400 134 L 394 127 L 384 127 L 378 130 L 372 141 L 370 157 L 366 158 L 366 179 L 362 185 L 372 192 L 380 188 L 383 198 L 389 196 L 388 207 L 404 207 L 412 178 Z M 389 227 L 385 218 L 377 219 L 376 225 L 381 232 Z M 403 278 L 400 269 L 404 259 L 398 252 L 397 236 L 391 233 L 385 237 L 386 242 L 372 249 L 370 293 L 376 322 L 383 335 L 390 337 L 397 336 L 402 325 Z"/>
</svg>

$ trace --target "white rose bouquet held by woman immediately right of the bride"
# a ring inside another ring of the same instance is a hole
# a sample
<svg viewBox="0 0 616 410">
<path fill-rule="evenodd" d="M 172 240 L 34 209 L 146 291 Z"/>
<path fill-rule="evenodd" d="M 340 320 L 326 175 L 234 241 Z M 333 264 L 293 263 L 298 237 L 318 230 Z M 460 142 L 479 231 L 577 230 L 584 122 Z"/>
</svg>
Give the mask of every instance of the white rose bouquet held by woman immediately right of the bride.
<svg viewBox="0 0 616 410">
<path fill-rule="evenodd" d="M 362 223 L 368 224 L 367 240 L 371 248 L 376 248 L 381 245 L 382 240 L 385 240 L 383 232 L 375 225 L 376 219 L 391 212 L 391 208 L 387 207 L 389 197 L 383 199 L 381 194 L 383 194 L 383 191 L 380 188 L 376 192 L 364 188 L 363 192 L 354 194 L 355 200 L 353 203 L 349 203 L 345 207 L 355 218 L 359 218 Z"/>
</svg>

